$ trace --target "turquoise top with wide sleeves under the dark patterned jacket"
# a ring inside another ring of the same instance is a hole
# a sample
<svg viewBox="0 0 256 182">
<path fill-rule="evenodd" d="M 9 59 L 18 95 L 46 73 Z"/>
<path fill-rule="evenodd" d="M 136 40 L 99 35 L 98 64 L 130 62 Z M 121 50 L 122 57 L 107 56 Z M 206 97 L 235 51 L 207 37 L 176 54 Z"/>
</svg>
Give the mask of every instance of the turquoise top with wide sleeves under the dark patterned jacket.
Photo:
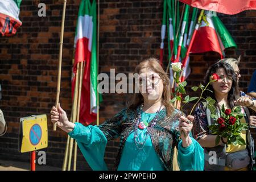
<svg viewBox="0 0 256 182">
<path fill-rule="evenodd" d="M 156 113 L 142 113 L 142 121 L 150 122 L 155 117 Z M 147 133 L 147 129 L 138 129 L 137 142 L 143 142 Z M 104 162 L 104 154 L 106 143 L 108 142 L 105 135 L 98 128 L 98 126 L 84 126 L 81 123 L 75 123 L 73 131 L 68 133 L 70 137 L 76 139 L 76 142 L 93 170 L 108 170 Z M 191 137 L 192 138 L 192 137 Z M 178 143 L 178 162 L 181 170 L 192 170 L 194 160 L 194 146 L 196 140 L 192 138 L 192 144 L 186 148 L 182 146 L 182 141 Z M 134 143 L 134 132 L 132 132 L 125 142 L 122 151 L 121 160 L 119 162 L 118 170 L 127 171 L 163 171 L 164 167 L 156 154 L 150 136 L 148 136 L 146 143 L 142 150 L 139 150 Z"/>
</svg>

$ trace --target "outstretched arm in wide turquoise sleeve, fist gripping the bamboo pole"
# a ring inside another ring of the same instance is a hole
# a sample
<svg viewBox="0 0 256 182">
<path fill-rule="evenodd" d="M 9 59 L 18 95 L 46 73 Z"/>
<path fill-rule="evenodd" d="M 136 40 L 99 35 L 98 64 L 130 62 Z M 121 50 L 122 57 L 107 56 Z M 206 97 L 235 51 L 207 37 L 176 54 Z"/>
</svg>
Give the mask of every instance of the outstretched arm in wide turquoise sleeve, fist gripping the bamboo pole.
<svg viewBox="0 0 256 182">
<path fill-rule="evenodd" d="M 119 123 L 121 123 L 122 116 L 123 110 L 100 126 L 84 126 L 81 123 L 69 122 L 67 114 L 60 105 L 58 105 L 58 111 L 54 106 L 51 110 L 51 121 L 57 123 L 58 127 L 76 140 L 89 166 L 93 170 L 101 171 L 108 170 L 104 161 L 106 144 L 108 139 L 118 137 L 121 132 Z"/>
</svg>

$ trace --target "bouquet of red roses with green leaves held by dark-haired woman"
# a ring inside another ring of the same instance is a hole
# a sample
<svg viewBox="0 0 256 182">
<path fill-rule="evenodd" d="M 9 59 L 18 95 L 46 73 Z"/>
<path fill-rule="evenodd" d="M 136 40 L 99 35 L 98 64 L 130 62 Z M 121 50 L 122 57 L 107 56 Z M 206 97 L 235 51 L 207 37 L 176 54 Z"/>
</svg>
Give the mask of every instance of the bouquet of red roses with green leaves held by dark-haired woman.
<svg viewBox="0 0 256 182">
<path fill-rule="evenodd" d="M 232 110 L 225 109 L 224 105 L 221 107 L 221 117 L 216 114 L 211 114 L 216 123 L 209 126 L 212 134 L 216 134 L 216 145 L 220 142 L 221 137 L 227 138 L 227 144 L 245 145 L 245 140 L 241 137 L 241 132 L 248 129 L 247 123 L 241 123 L 240 119 L 244 114 L 241 113 L 241 107 L 236 106 Z"/>
</svg>

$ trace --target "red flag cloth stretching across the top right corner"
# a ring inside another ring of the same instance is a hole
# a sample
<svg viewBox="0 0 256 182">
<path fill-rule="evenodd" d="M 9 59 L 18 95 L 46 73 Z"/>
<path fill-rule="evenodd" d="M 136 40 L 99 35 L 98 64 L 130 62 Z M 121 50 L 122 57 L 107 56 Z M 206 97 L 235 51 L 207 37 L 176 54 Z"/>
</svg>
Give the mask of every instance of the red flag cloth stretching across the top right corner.
<svg viewBox="0 0 256 182">
<path fill-rule="evenodd" d="M 224 14 L 237 14 L 245 10 L 256 10 L 255 0 L 179 0 L 189 6 Z"/>
</svg>

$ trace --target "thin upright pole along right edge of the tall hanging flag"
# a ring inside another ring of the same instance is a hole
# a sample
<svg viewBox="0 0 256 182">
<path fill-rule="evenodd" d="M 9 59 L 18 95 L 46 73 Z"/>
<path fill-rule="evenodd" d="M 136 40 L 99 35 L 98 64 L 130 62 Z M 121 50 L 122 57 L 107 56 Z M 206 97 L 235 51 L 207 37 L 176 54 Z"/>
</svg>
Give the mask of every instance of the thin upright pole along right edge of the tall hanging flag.
<svg viewBox="0 0 256 182">
<path fill-rule="evenodd" d="M 98 65 L 99 65 L 99 43 L 100 43 L 100 0 L 98 0 L 98 22 L 97 22 L 97 74 L 98 74 Z M 98 79 L 97 79 L 97 125 L 100 125 L 100 101 L 98 96 Z"/>
</svg>

